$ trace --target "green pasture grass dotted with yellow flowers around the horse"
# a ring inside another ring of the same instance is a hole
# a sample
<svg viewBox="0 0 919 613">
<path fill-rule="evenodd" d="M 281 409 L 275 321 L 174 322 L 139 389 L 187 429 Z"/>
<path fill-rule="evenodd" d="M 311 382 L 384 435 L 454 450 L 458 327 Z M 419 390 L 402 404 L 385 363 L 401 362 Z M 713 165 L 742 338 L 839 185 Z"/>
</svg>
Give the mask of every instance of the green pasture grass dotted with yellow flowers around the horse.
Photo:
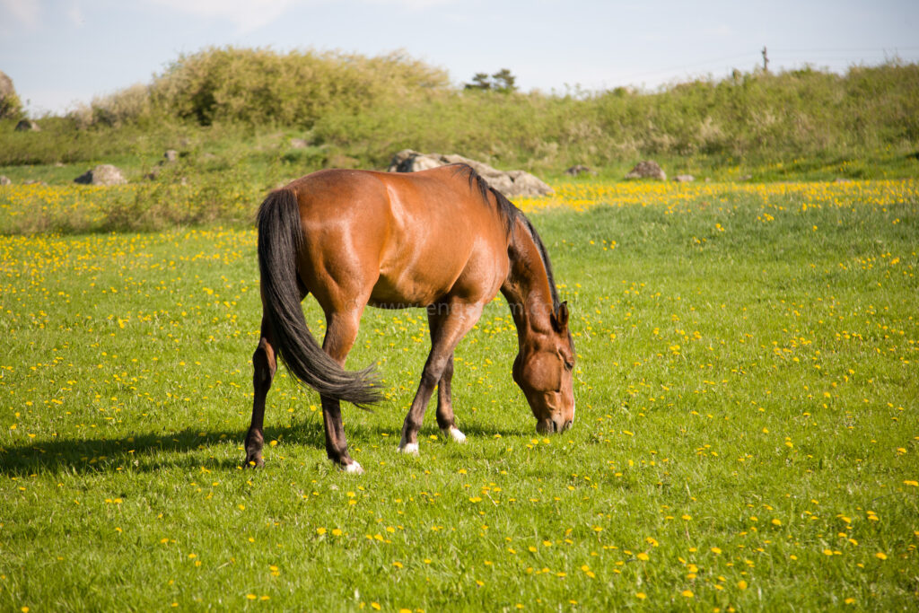
<svg viewBox="0 0 919 613">
<path fill-rule="evenodd" d="M 499 299 L 457 351 L 467 444 L 431 407 L 396 454 L 426 324 L 368 310 L 362 476 L 284 369 L 243 469 L 253 231 L 0 237 L 0 609 L 913 610 L 914 182 L 557 187 L 520 204 L 573 429 L 536 435 Z"/>
</svg>

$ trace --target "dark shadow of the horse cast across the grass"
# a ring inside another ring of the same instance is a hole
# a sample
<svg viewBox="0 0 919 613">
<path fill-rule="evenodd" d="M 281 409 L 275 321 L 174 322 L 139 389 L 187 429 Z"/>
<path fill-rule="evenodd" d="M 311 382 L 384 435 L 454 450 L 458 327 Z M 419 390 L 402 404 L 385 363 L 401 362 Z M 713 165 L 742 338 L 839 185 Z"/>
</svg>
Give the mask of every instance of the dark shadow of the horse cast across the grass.
<svg viewBox="0 0 919 613">
<path fill-rule="evenodd" d="M 433 420 L 432 420 L 433 422 Z M 472 438 L 527 437 L 522 429 L 460 424 Z M 346 428 L 352 445 L 399 442 L 400 428 L 353 425 Z M 388 437 L 384 437 L 386 434 Z M 437 423 L 425 424 L 421 437 L 439 434 Z M 169 468 L 235 471 L 243 468 L 245 430 L 200 430 L 187 427 L 175 433 L 148 432 L 121 438 L 54 437 L 0 448 L 0 474 L 23 477 L 40 473 L 152 472 Z M 307 420 L 290 426 L 267 427 L 265 440 L 285 445 L 325 449 L 321 422 Z M 196 453 L 209 451 L 207 454 Z"/>
</svg>

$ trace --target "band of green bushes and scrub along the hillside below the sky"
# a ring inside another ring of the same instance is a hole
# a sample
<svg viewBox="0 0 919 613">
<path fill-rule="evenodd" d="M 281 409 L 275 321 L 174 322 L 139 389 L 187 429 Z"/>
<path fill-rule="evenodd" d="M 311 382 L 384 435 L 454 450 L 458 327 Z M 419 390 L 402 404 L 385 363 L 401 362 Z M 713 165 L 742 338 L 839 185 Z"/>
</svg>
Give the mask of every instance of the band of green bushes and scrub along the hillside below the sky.
<svg viewBox="0 0 919 613">
<path fill-rule="evenodd" d="M 228 47 L 180 56 L 150 85 L 46 118 L 42 132 L 14 134 L 12 125 L 0 121 L 7 134 L 0 166 L 156 161 L 165 148 L 206 143 L 255 159 L 269 179 L 345 159 L 385 167 L 405 148 L 549 174 L 651 156 L 686 168 L 781 164 L 828 173 L 855 159 L 883 160 L 914 174 L 919 64 L 857 66 L 845 75 L 735 72 L 653 92 L 546 95 L 451 87 L 442 70 L 401 53 Z M 265 142 L 278 131 L 304 138 L 310 150 Z"/>
</svg>

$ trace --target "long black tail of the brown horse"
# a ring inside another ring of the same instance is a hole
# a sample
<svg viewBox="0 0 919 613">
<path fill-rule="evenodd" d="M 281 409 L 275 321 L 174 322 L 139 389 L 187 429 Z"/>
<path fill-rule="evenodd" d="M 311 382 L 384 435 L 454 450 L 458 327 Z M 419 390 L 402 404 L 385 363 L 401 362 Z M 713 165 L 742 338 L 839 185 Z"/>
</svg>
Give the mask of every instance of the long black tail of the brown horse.
<svg viewBox="0 0 919 613">
<path fill-rule="evenodd" d="M 372 366 L 357 372 L 342 369 L 306 325 L 297 285 L 303 231 L 296 195 L 289 189 L 271 192 L 258 209 L 256 225 L 263 302 L 281 360 L 297 379 L 324 396 L 360 407 L 379 402 Z"/>
</svg>

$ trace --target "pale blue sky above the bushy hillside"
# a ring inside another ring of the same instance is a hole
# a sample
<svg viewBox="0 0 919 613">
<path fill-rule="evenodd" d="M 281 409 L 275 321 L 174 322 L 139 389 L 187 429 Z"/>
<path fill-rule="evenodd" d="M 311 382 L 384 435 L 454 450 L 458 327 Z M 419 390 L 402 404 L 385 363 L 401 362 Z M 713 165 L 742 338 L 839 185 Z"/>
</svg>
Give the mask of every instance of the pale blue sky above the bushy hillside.
<svg viewBox="0 0 919 613">
<path fill-rule="evenodd" d="M 919 0 L 0 0 L 0 70 L 33 116 L 149 83 L 210 45 L 378 55 L 460 84 L 509 68 L 523 90 L 654 88 L 762 63 L 843 72 L 919 61 Z"/>
</svg>

